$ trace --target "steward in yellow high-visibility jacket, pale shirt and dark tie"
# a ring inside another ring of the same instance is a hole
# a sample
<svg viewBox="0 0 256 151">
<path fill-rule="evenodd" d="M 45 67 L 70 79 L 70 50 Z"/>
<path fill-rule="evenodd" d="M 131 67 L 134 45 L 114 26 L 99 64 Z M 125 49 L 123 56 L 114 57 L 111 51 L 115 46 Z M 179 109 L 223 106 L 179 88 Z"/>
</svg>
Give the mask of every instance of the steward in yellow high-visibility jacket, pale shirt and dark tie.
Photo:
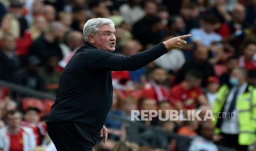
<svg viewBox="0 0 256 151">
<path fill-rule="evenodd" d="M 252 85 L 247 83 L 247 71 L 234 68 L 230 75 L 230 84 L 222 85 L 213 105 L 216 132 L 223 136 L 220 143 L 223 146 L 237 150 L 247 150 L 255 141 L 255 99 Z M 248 100 L 248 101 L 244 101 Z M 219 114 L 219 115 L 217 115 Z"/>
</svg>

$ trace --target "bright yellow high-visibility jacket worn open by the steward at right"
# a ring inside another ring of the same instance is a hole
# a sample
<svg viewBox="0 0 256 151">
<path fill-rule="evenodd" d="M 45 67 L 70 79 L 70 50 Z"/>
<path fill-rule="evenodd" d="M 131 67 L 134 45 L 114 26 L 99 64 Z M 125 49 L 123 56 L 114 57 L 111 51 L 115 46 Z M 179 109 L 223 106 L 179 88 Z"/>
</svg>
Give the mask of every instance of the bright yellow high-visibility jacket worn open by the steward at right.
<svg viewBox="0 0 256 151">
<path fill-rule="evenodd" d="M 219 113 L 225 104 L 230 88 L 227 85 L 221 86 L 217 98 L 213 104 L 214 125 L 217 124 Z M 238 111 L 238 143 L 239 145 L 251 145 L 256 140 L 256 89 L 248 85 L 246 91 L 237 98 L 236 108 Z M 220 133 L 216 127 L 215 133 Z"/>
</svg>

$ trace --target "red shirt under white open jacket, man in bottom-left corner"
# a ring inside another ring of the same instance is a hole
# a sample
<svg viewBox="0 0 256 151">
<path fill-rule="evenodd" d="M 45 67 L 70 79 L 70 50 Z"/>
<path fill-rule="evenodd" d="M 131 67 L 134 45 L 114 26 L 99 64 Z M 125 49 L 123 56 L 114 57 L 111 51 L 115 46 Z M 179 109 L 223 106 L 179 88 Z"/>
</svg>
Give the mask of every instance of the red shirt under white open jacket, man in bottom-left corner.
<svg viewBox="0 0 256 151">
<path fill-rule="evenodd" d="M 23 151 L 23 129 L 19 129 L 17 134 L 10 134 L 10 151 Z"/>
</svg>

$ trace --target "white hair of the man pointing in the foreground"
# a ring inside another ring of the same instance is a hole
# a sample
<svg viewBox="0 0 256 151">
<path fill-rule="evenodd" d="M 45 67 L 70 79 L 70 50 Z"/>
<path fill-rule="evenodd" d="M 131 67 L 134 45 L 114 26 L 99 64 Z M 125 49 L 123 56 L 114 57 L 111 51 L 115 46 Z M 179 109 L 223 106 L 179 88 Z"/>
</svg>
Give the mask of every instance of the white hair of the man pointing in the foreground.
<svg viewBox="0 0 256 151">
<path fill-rule="evenodd" d="M 96 34 L 98 31 L 98 28 L 103 25 L 108 25 L 113 28 L 115 28 L 115 24 L 112 20 L 106 19 L 106 18 L 96 18 L 96 19 L 89 19 L 85 24 L 84 24 L 84 41 L 88 42 L 89 41 L 89 34 Z"/>
</svg>

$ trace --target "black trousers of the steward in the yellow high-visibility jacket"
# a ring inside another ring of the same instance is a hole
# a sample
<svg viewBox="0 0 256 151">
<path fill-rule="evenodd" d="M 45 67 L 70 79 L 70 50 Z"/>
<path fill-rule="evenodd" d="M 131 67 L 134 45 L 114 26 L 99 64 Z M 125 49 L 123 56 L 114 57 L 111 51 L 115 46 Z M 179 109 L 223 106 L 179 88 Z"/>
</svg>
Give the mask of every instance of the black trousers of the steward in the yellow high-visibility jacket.
<svg viewBox="0 0 256 151">
<path fill-rule="evenodd" d="M 241 151 L 246 151 L 248 149 L 248 146 L 238 144 L 238 135 L 230 135 L 226 133 L 221 133 L 221 135 L 223 136 L 223 139 L 217 142 L 217 144 Z"/>
</svg>

